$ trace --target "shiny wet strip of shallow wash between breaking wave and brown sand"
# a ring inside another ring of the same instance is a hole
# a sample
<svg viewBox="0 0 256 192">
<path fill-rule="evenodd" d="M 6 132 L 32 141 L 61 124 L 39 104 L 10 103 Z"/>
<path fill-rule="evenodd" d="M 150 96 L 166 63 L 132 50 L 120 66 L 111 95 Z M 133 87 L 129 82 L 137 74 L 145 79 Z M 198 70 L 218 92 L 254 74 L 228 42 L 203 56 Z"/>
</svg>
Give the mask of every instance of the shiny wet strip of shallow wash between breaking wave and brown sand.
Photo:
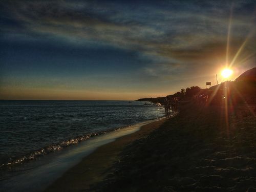
<svg viewBox="0 0 256 192">
<path fill-rule="evenodd" d="M 135 133 L 140 130 L 141 126 L 161 119 L 163 118 L 147 120 L 120 129 L 115 129 L 106 134 L 98 135 L 84 140 L 83 142 L 79 142 L 76 145 L 65 147 L 63 150 L 49 153 L 46 156 L 41 156 L 37 161 L 24 164 L 24 166 L 20 168 L 20 174 L 1 180 L 0 190 L 44 191 L 70 168 L 96 151 L 98 147 L 115 141 L 122 136 Z"/>
</svg>

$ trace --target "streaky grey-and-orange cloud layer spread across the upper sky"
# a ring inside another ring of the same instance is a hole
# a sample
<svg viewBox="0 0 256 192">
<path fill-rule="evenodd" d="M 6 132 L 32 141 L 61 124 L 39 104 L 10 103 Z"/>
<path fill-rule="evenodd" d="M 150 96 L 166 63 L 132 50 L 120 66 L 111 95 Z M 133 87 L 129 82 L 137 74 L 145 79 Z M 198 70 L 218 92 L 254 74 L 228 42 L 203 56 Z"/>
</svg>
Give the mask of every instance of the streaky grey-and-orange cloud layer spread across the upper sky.
<svg viewBox="0 0 256 192">
<path fill-rule="evenodd" d="M 142 73 L 160 80 L 180 79 L 189 70 L 208 71 L 225 61 L 230 2 L 142 3 L 6 1 L 3 17 L 15 25 L 5 24 L 2 34 L 133 50 L 148 61 Z M 233 4 L 230 58 L 253 30 L 253 6 L 253 2 Z M 250 38 L 242 57 L 256 51 L 255 33 Z"/>
</svg>

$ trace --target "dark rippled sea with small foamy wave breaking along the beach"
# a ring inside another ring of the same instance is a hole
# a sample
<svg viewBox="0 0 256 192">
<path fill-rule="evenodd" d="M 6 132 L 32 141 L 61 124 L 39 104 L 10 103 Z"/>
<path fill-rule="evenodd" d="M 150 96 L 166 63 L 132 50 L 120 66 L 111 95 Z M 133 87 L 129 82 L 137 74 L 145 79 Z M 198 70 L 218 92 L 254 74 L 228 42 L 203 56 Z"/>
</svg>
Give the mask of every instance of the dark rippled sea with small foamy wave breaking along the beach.
<svg viewBox="0 0 256 192">
<path fill-rule="evenodd" d="M 73 150 L 71 162 L 96 141 L 114 139 L 105 134 L 162 117 L 161 106 L 144 101 L 0 100 L 0 185 L 12 191 L 8 184 L 13 186 L 23 174 L 31 175 L 63 154 L 67 157 Z"/>
</svg>

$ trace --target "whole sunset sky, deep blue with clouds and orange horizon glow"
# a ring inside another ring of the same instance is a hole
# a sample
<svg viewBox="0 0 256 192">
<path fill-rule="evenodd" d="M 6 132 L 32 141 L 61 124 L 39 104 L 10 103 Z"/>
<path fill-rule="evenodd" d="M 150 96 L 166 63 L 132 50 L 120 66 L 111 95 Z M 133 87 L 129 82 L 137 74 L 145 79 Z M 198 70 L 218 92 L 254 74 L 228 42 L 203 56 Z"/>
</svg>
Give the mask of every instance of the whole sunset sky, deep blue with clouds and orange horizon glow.
<svg viewBox="0 0 256 192">
<path fill-rule="evenodd" d="M 0 24 L 0 99 L 160 97 L 256 67 L 255 1 L 10 0 Z"/>
</svg>

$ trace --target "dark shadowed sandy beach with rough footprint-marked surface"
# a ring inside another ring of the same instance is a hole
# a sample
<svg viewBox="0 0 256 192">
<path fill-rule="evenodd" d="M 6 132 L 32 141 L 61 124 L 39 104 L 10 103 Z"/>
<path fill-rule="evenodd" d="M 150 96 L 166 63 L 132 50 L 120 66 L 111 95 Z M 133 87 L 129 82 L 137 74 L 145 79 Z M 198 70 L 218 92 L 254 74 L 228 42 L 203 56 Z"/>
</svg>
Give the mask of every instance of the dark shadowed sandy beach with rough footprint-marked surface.
<svg viewBox="0 0 256 192">
<path fill-rule="evenodd" d="M 102 146 L 50 189 L 256 191 L 254 108 L 184 105 L 159 129 Z"/>
</svg>

